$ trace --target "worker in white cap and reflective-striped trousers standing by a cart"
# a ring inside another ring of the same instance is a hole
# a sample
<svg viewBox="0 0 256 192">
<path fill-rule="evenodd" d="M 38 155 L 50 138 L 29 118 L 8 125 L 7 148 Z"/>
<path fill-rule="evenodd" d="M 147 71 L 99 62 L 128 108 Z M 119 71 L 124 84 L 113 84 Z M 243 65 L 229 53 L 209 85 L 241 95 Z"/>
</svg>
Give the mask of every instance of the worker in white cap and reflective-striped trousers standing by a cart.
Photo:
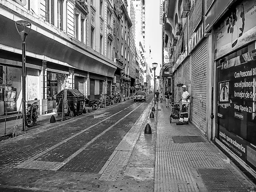
<svg viewBox="0 0 256 192">
<path fill-rule="evenodd" d="M 180 112 L 180 120 L 179 120 L 178 123 L 176 123 L 176 125 L 188 124 L 188 105 L 190 103 L 190 100 L 189 100 L 190 94 L 186 90 L 186 85 L 182 86 L 182 90 L 183 90 L 182 98 L 180 99 L 180 101 L 182 101 L 182 107 L 181 107 L 181 112 Z"/>
</svg>

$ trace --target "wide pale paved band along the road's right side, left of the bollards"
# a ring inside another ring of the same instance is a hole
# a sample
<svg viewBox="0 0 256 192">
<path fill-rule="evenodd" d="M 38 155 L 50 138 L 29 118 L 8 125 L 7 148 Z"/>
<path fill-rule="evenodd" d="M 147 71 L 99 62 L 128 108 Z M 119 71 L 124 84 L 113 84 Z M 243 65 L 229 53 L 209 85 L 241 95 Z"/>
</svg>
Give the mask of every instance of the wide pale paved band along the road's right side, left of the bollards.
<svg viewBox="0 0 256 192">
<path fill-rule="evenodd" d="M 138 118 L 134 126 L 132 126 L 129 132 L 116 147 L 113 155 L 111 155 L 108 159 L 108 162 L 102 167 L 99 172 L 102 174 L 99 180 L 114 181 L 116 180 L 118 173 L 125 169 L 128 160 L 132 155 L 132 150 L 138 140 L 138 137 L 140 136 L 140 132 L 147 121 L 147 117 L 149 115 L 148 111 L 150 111 L 152 103 L 153 102 L 148 104 L 148 107 L 144 110 L 140 118 Z"/>
</svg>

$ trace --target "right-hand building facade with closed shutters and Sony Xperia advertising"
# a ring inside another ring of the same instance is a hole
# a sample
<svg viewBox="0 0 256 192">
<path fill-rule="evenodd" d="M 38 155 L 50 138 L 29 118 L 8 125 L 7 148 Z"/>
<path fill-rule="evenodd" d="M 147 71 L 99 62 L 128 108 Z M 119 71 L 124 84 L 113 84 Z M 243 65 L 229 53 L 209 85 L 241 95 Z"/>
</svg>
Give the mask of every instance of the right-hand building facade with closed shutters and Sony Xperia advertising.
<svg viewBox="0 0 256 192">
<path fill-rule="evenodd" d="M 191 123 L 256 177 L 254 6 L 254 0 L 169 0 L 163 38 L 170 41 L 174 100 L 177 84 L 185 84 Z"/>
</svg>

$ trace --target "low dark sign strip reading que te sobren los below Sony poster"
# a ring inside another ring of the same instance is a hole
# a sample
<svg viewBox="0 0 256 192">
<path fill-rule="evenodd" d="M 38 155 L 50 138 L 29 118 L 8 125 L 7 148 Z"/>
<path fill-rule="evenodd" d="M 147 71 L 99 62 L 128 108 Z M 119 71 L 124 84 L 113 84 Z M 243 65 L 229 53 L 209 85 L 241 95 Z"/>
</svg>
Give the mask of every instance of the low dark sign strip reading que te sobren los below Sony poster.
<svg viewBox="0 0 256 192">
<path fill-rule="evenodd" d="M 246 141 L 240 139 L 238 136 L 228 132 L 226 129 L 220 127 L 218 138 L 238 157 L 246 160 Z"/>
</svg>

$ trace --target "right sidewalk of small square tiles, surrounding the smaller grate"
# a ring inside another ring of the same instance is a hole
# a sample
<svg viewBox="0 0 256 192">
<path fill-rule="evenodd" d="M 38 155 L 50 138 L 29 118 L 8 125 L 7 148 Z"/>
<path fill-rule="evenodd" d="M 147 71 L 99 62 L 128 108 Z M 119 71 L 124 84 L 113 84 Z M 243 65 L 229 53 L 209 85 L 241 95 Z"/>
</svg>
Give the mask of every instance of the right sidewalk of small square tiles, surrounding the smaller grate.
<svg viewBox="0 0 256 192">
<path fill-rule="evenodd" d="M 192 167 L 226 167 L 230 163 L 211 144 L 172 142 L 172 136 L 201 135 L 191 124 L 169 121 L 170 109 L 158 111 L 154 192 L 199 192 Z"/>
</svg>

